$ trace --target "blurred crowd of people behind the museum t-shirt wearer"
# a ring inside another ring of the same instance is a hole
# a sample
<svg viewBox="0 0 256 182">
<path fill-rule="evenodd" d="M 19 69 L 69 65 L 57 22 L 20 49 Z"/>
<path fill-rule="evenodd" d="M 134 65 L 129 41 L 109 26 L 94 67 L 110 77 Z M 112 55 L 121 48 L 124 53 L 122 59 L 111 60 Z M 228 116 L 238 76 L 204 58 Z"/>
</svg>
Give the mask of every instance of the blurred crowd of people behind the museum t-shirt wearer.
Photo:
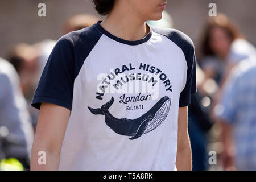
<svg viewBox="0 0 256 182">
<path fill-rule="evenodd" d="M 97 21 L 88 14 L 73 16 L 64 24 L 63 35 Z M 147 23 L 173 28 L 166 11 L 162 20 Z M 197 93 L 188 119 L 193 170 L 256 170 L 255 47 L 224 14 L 208 18 L 201 29 Z M 0 160 L 15 158 L 24 169 L 30 168 L 39 114 L 30 104 L 55 43 L 17 43 L 7 60 L 0 59 Z M 217 155 L 216 165 L 210 165 L 209 151 Z"/>
</svg>

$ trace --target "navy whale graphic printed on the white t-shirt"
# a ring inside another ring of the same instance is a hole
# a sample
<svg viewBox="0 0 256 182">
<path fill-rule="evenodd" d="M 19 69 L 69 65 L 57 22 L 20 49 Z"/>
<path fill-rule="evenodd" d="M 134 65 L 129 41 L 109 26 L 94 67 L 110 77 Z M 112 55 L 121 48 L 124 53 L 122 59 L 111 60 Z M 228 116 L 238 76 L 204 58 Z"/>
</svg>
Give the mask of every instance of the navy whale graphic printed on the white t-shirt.
<svg viewBox="0 0 256 182">
<path fill-rule="evenodd" d="M 115 118 L 109 112 L 109 107 L 112 106 L 114 98 L 112 97 L 109 102 L 102 105 L 101 108 L 88 109 L 92 114 L 105 115 L 105 122 L 115 133 L 120 135 L 131 136 L 130 140 L 137 139 L 141 135 L 146 134 L 161 125 L 166 119 L 171 100 L 167 96 L 162 97 L 147 113 L 143 114 L 137 119 Z"/>
</svg>

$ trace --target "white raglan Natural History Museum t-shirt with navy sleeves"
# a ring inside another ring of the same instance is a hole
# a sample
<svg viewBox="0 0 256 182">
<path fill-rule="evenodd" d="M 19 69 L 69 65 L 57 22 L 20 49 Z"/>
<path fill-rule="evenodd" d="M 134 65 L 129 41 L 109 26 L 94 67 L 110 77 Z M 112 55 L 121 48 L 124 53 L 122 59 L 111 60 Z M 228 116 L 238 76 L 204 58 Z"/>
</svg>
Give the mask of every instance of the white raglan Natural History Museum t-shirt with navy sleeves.
<svg viewBox="0 0 256 182">
<path fill-rule="evenodd" d="M 31 104 L 71 110 L 59 169 L 175 170 L 179 107 L 196 92 L 191 39 L 149 26 L 123 40 L 100 23 L 59 39 Z"/>
</svg>

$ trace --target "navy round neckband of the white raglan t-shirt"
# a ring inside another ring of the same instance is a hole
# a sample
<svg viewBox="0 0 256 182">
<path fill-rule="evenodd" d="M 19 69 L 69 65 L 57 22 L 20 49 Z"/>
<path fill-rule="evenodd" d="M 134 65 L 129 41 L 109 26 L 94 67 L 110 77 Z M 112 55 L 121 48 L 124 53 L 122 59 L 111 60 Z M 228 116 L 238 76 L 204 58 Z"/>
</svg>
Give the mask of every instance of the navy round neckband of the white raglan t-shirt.
<svg viewBox="0 0 256 182">
<path fill-rule="evenodd" d="M 94 26 L 96 28 L 98 28 L 98 30 L 108 36 L 108 38 L 110 39 L 113 39 L 119 43 L 123 43 L 123 44 L 127 44 L 127 45 L 131 45 L 131 46 L 136 46 L 136 45 L 139 45 L 139 44 L 142 44 L 142 43 L 145 43 L 147 42 L 151 36 L 152 36 L 152 28 L 150 27 L 150 25 L 147 24 L 146 22 L 146 26 L 148 26 L 150 28 L 150 31 L 148 32 L 148 34 L 146 36 L 144 36 L 144 38 L 140 39 L 140 40 L 125 40 L 125 39 L 121 39 L 121 38 L 118 38 L 117 36 L 111 34 L 110 32 L 106 31 L 102 26 L 101 26 L 101 23 L 102 20 L 99 20 L 97 23 L 94 24 Z"/>
</svg>

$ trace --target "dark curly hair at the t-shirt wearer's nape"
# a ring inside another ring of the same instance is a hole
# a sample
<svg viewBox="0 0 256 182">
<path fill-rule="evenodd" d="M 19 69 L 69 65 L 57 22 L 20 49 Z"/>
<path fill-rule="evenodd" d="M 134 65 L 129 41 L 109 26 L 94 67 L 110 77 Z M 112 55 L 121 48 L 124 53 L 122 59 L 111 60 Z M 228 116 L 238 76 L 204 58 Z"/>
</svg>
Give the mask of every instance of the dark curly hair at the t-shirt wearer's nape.
<svg viewBox="0 0 256 182">
<path fill-rule="evenodd" d="M 108 15 L 113 9 L 115 0 L 92 0 L 96 5 L 95 9 L 100 15 Z"/>
</svg>

